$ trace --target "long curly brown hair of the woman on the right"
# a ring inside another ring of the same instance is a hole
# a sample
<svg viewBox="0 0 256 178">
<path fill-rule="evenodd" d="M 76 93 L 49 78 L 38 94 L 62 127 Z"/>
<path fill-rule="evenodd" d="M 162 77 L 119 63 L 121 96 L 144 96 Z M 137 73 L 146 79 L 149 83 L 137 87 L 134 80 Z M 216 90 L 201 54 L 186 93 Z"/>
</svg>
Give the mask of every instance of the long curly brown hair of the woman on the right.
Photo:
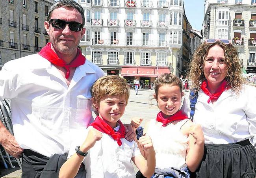
<svg viewBox="0 0 256 178">
<path fill-rule="evenodd" d="M 229 44 L 225 45 L 221 41 L 215 43 L 203 42 L 198 46 L 194 53 L 193 60 L 189 65 L 189 78 L 192 82 L 191 88 L 198 90 L 201 83 L 206 79 L 204 76 L 204 61 L 208 55 L 211 47 L 218 45 L 224 50 L 225 64 L 226 64 L 226 81 L 230 89 L 239 93 L 242 89 L 245 80 L 242 76 L 241 61 L 238 57 L 236 48 Z"/>
</svg>

